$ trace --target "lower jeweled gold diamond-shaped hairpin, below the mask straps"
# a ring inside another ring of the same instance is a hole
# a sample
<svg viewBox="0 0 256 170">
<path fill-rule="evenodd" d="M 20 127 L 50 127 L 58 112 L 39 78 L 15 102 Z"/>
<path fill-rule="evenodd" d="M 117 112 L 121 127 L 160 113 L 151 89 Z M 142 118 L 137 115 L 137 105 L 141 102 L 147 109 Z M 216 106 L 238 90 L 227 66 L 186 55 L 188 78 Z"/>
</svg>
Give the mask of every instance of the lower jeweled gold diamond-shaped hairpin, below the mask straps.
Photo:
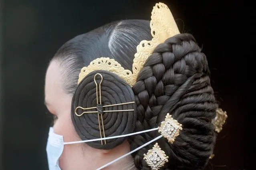
<svg viewBox="0 0 256 170">
<path fill-rule="evenodd" d="M 168 162 L 168 156 L 165 152 L 159 148 L 158 143 L 155 143 L 151 150 L 148 150 L 147 154 L 144 154 L 145 161 L 147 165 L 152 168 L 152 170 L 158 170 L 162 167 L 165 162 Z"/>
</svg>

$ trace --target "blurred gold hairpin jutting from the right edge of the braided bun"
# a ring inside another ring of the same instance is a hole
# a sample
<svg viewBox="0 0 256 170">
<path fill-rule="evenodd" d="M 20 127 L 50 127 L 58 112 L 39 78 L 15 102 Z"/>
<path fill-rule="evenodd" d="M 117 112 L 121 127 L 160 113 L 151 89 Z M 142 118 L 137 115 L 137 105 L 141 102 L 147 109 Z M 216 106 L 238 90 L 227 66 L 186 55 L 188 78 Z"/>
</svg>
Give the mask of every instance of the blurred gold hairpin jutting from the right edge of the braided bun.
<svg viewBox="0 0 256 170">
<path fill-rule="evenodd" d="M 222 109 L 218 108 L 216 110 L 216 117 L 213 121 L 213 124 L 215 126 L 215 131 L 220 133 L 222 130 L 222 126 L 226 122 L 226 119 L 228 118 L 227 112 L 223 111 Z"/>
</svg>

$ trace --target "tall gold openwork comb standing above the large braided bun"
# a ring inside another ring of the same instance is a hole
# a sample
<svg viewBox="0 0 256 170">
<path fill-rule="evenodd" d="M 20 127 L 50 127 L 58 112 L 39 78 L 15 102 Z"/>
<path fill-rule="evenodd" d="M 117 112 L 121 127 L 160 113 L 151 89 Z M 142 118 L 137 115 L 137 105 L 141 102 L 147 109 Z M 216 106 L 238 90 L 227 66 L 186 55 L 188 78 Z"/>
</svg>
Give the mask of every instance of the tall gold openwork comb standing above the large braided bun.
<svg viewBox="0 0 256 170">
<path fill-rule="evenodd" d="M 167 38 L 180 34 L 177 24 L 168 6 L 159 2 L 155 4 L 151 12 L 150 21 L 152 40 L 143 40 L 137 46 L 137 53 L 133 59 L 133 82 L 144 67 L 147 58 L 153 53 L 157 45 L 163 43 Z"/>
</svg>

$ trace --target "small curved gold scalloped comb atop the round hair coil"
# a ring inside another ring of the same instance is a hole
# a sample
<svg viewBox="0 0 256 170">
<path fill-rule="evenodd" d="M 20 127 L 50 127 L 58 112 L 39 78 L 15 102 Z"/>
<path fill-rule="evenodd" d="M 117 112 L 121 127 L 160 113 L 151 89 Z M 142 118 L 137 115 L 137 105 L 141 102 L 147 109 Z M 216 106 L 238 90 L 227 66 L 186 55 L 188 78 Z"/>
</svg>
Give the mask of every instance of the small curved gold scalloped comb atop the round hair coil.
<svg viewBox="0 0 256 170">
<path fill-rule="evenodd" d="M 97 58 L 91 61 L 89 66 L 83 67 L 79 73 L 78 84 L 85 78 L 85 76 L 95 70 L 111 71 L 121 77 L 121 79 L 125 80 L 129 85 L 133 85 L 131 71 L 124 69 L 121 64 L 109 57 Z"/>
</svg>

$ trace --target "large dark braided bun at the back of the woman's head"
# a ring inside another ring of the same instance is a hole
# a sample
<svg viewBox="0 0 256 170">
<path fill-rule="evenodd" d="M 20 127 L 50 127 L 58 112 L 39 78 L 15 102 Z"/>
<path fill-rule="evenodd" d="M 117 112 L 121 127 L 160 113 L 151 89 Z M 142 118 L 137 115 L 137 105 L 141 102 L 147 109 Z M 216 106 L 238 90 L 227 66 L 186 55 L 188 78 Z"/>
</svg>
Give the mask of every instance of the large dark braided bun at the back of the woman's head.
<svg viewBox="0 0 256 170">
<path fill-rule="evenodd" d="M 137 103 L 135 131 L 160 126 L 170 113 L 183 125 L 175 142 L 157 142 L 169 156 L 163 169 L 200 169 L 206 165 L 215 143 L 210 120 L 218 107 L 210 86 L 206 56 L 190 34 L 178 34 L 159 44 L 140 71 L 133 92 Z M 159 136 L 150 132 L 131 137 L 131 150 Z M 143 154 L 153 144 L 135 154 L 135 166 L 149 170 Z"/>
</svg>

